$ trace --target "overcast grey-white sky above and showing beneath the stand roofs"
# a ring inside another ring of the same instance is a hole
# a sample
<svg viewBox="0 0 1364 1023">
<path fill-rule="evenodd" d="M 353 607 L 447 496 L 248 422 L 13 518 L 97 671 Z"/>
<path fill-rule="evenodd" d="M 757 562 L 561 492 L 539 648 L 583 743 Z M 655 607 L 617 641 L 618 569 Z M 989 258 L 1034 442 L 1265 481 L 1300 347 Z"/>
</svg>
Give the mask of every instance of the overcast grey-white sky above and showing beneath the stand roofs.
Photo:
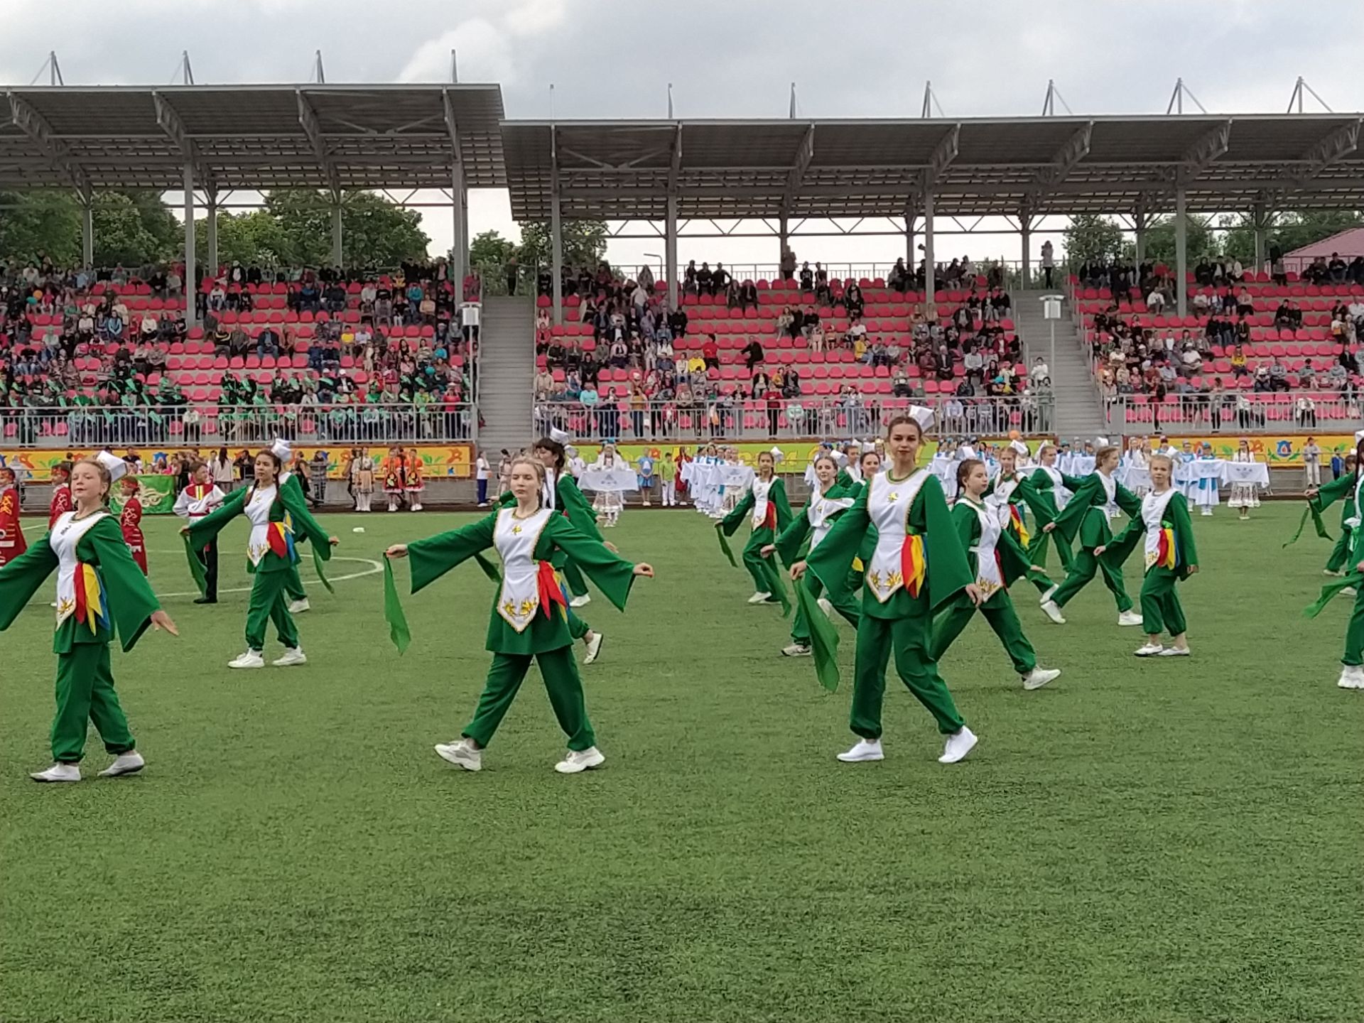
<svg viewBox="0 0 1364 1023">
<path fill-rule="evenodd" d="M 1335 110 L 1364 108 L 1364 4 L 1094 0 L 975 4 L 786 0 L 0 0 L 0 82 L 56 49 L 70 85 L 162 85 L 187 49 L 201 83 L 498 82 L 509 117 L 915 117 L 932 79 L 948 117 L 1041 113 L 1046 82 L 1075 113 L 1163 113 L 1174 79 L 1213 113 L 1284 112 L 1299 75 Z M 1314 101 L 1309 109 L 1318 109 Z M 434 251 L 449 217 L 426 217 Z M 514 236 L 505 194 L 471 194 L 471 236 Z M 1041 244 L 1041 237 L 1034 236 Z M 801 258 L 893 261 L 893 237 L 805 239 Z M 659 241 L 621 241 L 633 263 Z M 941 258 L 1018 258 L 1015 237 L 943 239 Z M 681 259 L 775 262 L 776 241 L 683 241 Z"/>
</svg>

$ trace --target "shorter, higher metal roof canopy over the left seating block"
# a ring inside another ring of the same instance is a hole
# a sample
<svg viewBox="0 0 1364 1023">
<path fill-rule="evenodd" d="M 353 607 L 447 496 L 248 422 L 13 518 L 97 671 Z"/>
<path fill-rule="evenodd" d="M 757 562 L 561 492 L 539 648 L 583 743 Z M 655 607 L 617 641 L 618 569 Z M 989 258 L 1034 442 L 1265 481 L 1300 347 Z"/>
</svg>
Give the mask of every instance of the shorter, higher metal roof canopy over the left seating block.
<svg viewBox="0 0 1364 1023">
<path fill-rule="evenodd" d="M 506 187 L 496 85 L 0 89 L 0 188 Z"/>
</svg>

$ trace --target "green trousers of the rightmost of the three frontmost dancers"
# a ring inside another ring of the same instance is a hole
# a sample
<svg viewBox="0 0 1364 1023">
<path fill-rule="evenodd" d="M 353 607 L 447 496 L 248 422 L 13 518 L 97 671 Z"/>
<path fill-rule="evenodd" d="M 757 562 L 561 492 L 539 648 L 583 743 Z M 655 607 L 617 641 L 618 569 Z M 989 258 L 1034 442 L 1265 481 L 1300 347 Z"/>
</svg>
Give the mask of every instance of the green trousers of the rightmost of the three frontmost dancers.
<svg viewBox="0 0 1364 1023">
<path fill-rule="evenodd" d="M 915 698 L 928 708 L 938 731 L 960 731 L 963 722 L 938 678 L 929 655 L 930 618 L 928 602 L 915 600 L 915 612 L 906 618 L 873 618 L 863 614 L 857 627 L 857 656 L 853 668 L 853 713 L 848 727 L 863 739 L 881 738 L 881 704 L 885 701 L 885 667 L 895 651 L 895 671 Z"/>
</svg>

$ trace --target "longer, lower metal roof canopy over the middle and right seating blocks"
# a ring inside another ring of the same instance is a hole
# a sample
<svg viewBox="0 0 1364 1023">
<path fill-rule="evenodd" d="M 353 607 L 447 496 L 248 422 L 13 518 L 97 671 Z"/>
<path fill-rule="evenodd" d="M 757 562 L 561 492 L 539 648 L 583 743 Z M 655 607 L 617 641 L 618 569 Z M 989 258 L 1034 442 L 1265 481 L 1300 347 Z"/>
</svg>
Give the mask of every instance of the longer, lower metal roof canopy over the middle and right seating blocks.
<svg viewBox="0 0 1364 1023">
<path fill-rule="evenodd" d="M 1364 209 L 1360 113 L 502 123 L 512 214 L 904 217 Z"/>
</svg>

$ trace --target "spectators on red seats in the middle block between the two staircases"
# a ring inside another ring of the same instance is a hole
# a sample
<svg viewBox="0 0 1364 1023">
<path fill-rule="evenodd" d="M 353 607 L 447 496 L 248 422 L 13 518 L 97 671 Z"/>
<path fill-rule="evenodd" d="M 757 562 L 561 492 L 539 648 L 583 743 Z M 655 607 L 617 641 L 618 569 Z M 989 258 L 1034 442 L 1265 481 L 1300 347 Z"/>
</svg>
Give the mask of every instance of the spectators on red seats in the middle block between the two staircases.
<svg viewBox="0 0 1364 1023">
<path fill-rule="evenodd" d="M 963 276 L 963 267 L 970 269 L 970 261 L 952 261 L 944 270 L 966 288 L 959 301 L 937 311 L 917 304 L 903 319 L 873 319 L 872 329 L 863 316 L 863 285 L 831 281 L 822 266 L 806 263 L 799 293 L 790 293 L 798 301 L 773 307 L 775 315 L 765 319 L 769 333 L 747 333 L 741 346 L 732 336 L 731 344 L 722 344 L 715 333 L 697 333 L 687 312 L 704 316 L 705 307 L 689 304 L 686 296 L 708 296 L 738 315 L 757 315 L 757 284 L 735 281 L 722 263 L 713 269 L 689 263 L 681 281 L 685 300 L 675 310 L 667 308 L 664 288 L 648 267 L 633 278 L 614 276 L 606 265 L 591 273 L 566 271 L 565 291 L 572 281 L 576 315 L 585 329 L 555 330 L 550 310 L 539 308 L 536 406 L 550 424 L 585 424 L 587 432 L 603 438 L 664 435 L 679 423 L 723 436 L 752 420 L 754 411 L 772 434 L 779 424 L 806 424 L 817 432 L 814 419 L 829 409 L 842 411 L 840 421 L 869 421 L 866 411 L 874 409 L 878 394 L 923 398 L 926 385 L 958 401 L 963 423 L 968 415 L 973 423 L 1005 417 L 977 411 L 982 404 L 1000 405 L 989 401 L 994 398 L 1018 406 L 1026 394 L 1022 405 L 1035 412 L 1049 398 L 1050 381 L 1018 374 L 1020 346 L 1009 296 L 974 270 Z M 898 269 L 904 270 L 903 262 Z M 903 282 L 911 281 L 906 273 Z M 888 284 L 877 281 L 876 291 Z M 547 285 L 552 281 L 542 277 L 542 291 Z M 782 355 L 795 349 L 797 359 L 773 359 L 777 348 Z M 825 361 L 874 368 L 889 378 L 889 389 L 873 393 L 848 381 L 816 394 L 810 374 Z"/>
</svg>

